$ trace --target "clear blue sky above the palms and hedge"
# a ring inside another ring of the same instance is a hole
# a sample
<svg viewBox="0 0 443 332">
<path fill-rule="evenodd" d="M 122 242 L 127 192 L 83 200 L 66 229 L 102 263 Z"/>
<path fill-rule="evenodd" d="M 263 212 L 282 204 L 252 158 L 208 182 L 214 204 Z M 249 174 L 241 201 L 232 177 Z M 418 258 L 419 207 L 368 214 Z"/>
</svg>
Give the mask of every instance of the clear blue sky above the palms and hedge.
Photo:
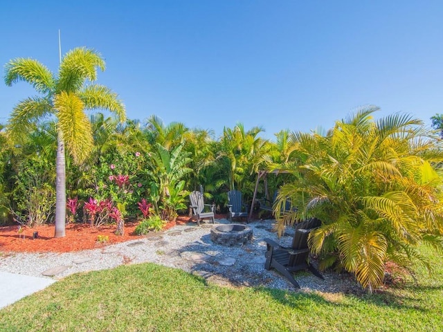
<svg viewBox="0 0 443 332">
<path fill-rule="evenodd" d="M 155 114 L 216 137 L 242 122 L 273 138 L 329 129 L 366 104 L 428 125 L 443 113 L 442 1 L 64 2 L 2 3 L 0 63 L 32 57 L 56 71 L 60 29 L 62 53 L 105 57 L 98 82 L 128 118 Z M 0 122 L 33 94 L 0 84 Z"/>
</svg>

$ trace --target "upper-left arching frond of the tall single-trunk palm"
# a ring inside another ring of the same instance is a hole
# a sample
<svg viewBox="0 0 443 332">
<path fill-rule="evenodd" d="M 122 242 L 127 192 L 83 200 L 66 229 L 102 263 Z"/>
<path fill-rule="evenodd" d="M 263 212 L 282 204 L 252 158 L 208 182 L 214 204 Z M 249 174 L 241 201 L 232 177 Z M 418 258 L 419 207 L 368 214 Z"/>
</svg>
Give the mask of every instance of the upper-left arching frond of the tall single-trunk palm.
<svg viewBox="0 0 443 332">
<path fill-rule="evenodd" d="M 34 59 L 13 59 L 5 68 L 5 83 L 24 81 L 31 84 L 39 93 L 51 93 L 54 89 L 54 77 L 46 66 Z"/>
</svg>

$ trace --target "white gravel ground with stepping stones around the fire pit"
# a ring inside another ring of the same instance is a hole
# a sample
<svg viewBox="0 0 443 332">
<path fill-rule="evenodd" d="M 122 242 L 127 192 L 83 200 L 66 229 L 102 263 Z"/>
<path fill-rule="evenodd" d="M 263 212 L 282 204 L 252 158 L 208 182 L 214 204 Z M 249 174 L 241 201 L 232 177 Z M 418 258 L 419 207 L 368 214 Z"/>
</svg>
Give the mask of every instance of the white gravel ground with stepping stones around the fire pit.
<svg viewBox="0 0 443 332">
<path fill-rule="evenodd" d="M 218 223 L 228 223 L 219 219 Z M 265 286 L 296 291 L 284 277 L 274 270 L 264 270 L 264 238 L 291 244 L 291 230 L 280 239 L 271 232 L 273 220 L 248 223 L 253 229 L 253 241 L 244 246 L 226 247 L 210 241 L 210 228 L 217 223 L 177 225 L 170 230 L 150 233 L 146 238 L 118 243 L 102 249 L 67 253 L 0 252 L 0 271 L 44 277 L 42 273 L 59 266 L 66 270 L 51 279 L 61 279 L 73 273 L 115 268 L 121 264 L 152 262 L 181 268 L 201 275 L 208 282 L 224 286 Z M 296 274 L 303 291 L 323 293 L 358 292 L 359 287 L 349 275 L 323 273 L 325 280 L 310 273 Z"/>
</svg>

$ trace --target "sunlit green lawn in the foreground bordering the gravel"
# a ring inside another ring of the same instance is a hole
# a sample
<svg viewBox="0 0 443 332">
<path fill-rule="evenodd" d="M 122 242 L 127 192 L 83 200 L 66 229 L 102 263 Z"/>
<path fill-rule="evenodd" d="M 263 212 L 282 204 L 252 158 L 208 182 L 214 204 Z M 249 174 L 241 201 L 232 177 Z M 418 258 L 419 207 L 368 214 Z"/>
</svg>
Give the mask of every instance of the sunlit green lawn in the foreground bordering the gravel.
<svg viewBox="0 0 443 332">
<path fill-rule="evenodd" d="M 417 269 L 382 294 L 356 297 L 221 288 L 138 264 L 71 275 L 0 311 L 0 331 L 443 331 L 443 266 Z"/>
</svg>

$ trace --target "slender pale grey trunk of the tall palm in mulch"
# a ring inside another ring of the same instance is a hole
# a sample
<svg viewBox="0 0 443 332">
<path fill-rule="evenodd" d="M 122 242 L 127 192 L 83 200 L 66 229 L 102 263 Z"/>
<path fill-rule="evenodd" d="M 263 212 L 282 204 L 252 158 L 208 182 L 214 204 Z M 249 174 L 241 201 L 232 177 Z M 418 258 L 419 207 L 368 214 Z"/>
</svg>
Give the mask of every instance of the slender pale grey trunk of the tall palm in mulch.
<svg viewBox="0 0 443 332">
<path fill-rule="evenodd" d="M 64 141 L 60 129 L 57 132 L 57 160 L 55 163 L 55 236 L 64 237 L 66 224 L 66 161 L 64 157 Z"/>
</svg>

